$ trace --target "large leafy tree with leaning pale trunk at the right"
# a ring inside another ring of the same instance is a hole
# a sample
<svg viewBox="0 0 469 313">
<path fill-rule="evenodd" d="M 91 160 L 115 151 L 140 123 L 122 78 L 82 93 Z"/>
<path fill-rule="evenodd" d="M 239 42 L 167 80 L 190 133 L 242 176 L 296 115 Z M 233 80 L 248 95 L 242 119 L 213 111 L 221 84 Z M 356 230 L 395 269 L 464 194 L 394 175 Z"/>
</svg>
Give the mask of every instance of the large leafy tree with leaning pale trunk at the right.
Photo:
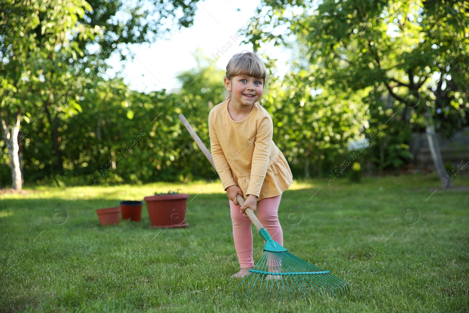
<svg viewBox="0 0 469 313">
<path fill-rule="evenodd" d="M 404 127 L 412 112 L 424 124 L 441 184 L 451 186 L 432 116 L 445 106 L 461 115 L 469 107 L 466 1 L 325 0 L 316 9 L 315 1 L 265 2 L 267 9 L 258 10 L 267 18 L 252 21 L 247 41 L 256 48 L 269 40 L 287 45 L 294 35 L 308 46 L 319 84 L 384 86 Z M 277 27 L 285 33 L 273 33 Z"/>
</svg>

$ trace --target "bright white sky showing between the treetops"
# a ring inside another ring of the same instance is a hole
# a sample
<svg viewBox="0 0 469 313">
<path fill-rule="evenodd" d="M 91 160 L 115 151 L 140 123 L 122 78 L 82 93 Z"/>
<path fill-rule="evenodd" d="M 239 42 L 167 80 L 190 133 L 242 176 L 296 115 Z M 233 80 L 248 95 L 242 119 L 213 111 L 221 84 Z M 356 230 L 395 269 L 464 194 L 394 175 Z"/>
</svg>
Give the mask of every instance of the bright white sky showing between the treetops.
<svg viewBox="0 0 469 313">
<path fill-rule="evenodd" d="M 259 3 L 260 0 L 200 1 L 191 27 L 175 28 L 169 40 L 159 39 L 151 45 L 131 46 L 131 51 L 135 53 L 133 61 L 111 57 L 108 63 L 113 69 L 108 71 L 108 75 L 113 76 L 122 70 L 120 76 L 124 77 L 130 88 L 139 92 L 178 88 L 181 84 L 176 76 L 197 65 L 192 55 L 197 48 L 212 59 L 218 52 L 220 58 L 213 66 L 226 69 L 235 53 L 252 51 L 252 45 L 240 45 L 243 38 L 238 35 L 238 30 L 244 28 L 250 17 L 255 15 Z M 231 47 L 228 49 L 227 46 Z M 287 72 L 291 58 L 287 49 L 269 45 L 261 53 L 278 59 L 276 66 L 279 76 Z"/>
</svg>

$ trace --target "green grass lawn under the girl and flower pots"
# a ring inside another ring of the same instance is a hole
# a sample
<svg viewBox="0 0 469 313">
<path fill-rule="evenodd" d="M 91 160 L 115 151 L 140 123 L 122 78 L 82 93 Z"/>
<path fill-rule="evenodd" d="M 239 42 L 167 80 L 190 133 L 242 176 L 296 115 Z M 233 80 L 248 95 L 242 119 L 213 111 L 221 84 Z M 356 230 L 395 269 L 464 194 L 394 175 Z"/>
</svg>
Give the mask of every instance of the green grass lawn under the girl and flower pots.
<svg viewBox="0 0 469 313">
<path fill-rule="evenodd" d="M 218 182 L 0 195 L 0 312 L 468 312 L 468 189 L 443 191 L 435 175 L 375 178 L 284 192 L 284 246 L 350 288 L 284 303 L 233 298 L 239 265 Z M 141 222 L 99 225 L 95 209 L 177 188 L 190 194 L 187 228 L 149 228 L 146 205 Z"/>
</svg>

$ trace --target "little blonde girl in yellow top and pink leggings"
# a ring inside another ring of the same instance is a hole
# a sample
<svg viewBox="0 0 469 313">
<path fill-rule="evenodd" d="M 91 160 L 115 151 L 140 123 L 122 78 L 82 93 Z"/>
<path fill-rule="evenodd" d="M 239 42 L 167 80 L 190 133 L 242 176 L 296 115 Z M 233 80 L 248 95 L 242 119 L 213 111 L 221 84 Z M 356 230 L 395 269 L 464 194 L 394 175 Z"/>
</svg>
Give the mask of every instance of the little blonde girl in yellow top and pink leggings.
<svg viewBox="0 0 469 313">
<path fill-rule="evenodd" d="M 227 100 L 210 111 L 208 125 L 213 161 L 230 199 L 234 246 L 244 277 L 254 268 L 251 221 L 247 207 L 283 245 L 278 210 L 282 192 L 293 176 L 287 160 L 272 141 L 270 114 L 257 101 L 265 89 L 267 69 L 256 53 L 238 53 L 227 65 L 224 82 Z M 245 199 L 240 206 L 236 195 Z M 256 207 L 257 204 L 257 207 Z"/>
</svg>

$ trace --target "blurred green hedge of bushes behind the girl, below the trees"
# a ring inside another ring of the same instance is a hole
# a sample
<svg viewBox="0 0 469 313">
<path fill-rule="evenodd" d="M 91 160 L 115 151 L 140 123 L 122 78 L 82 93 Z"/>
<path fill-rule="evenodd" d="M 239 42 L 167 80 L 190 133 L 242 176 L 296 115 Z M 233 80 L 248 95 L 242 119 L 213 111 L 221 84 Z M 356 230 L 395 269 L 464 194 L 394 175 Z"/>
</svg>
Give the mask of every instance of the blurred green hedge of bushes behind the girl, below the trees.
<svg viewBox="0 0 469 313">
<path fill-rule="evenodd" d="M 57 166 L 47 117 L 38 112 L 36 119 L 23 122 L 20 151 L 25 181 L 60 186 L 215 179 L 216 173 L 178 117 L 186 116 L 210 147 L 207 119 L 211 108 L 223 101 L 224 71 L 209 66 L 201 55 L 197 58 L 197 68 L 178 76 L 182 88 L 145 94 L 130 90 L 118 78 L 98 78 L 83 86 L 83 96 L 77 100 L 80 110 L 63 115 L 59 122 L 62 169 Z M 330 176 L 344 160 L 352 160 L 348 141 L 365 137 L 373 140 L 359 153 L 357 160 L 363 166 L 385 170 L 412 159 L 408 151 L 412 128 L 390 119 L 393 110 L 386 108 L 382 94 L 373 88 L 316 94 L 305 75 L 306 71 L 284 79 L 271 76 L 262 100 L 273 118 L 273 140 L 295 178 Z M 1 183 L 8 185 L 8 153 L 2 155 Z"/>
</svg>

